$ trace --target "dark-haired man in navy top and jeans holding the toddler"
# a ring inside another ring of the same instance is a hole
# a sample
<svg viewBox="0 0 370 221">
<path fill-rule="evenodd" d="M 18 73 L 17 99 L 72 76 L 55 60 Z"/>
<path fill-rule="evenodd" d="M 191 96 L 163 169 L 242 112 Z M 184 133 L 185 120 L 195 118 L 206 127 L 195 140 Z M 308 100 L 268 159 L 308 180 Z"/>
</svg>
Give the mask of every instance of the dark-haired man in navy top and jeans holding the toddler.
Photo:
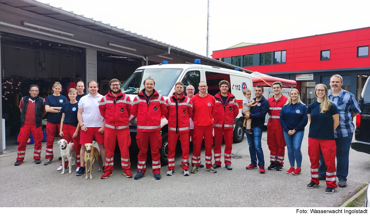
<svg viewBox="0 0 370 221">
<path fill-rule="evenodd" d="M 264 157 L 261 145 L 262 138 L 262 128 L 264 126 L 264 119 L 268 112 L 270 105 L 268 101 L 263 96 L 263 87 L 257 85 L 255 88 L 256 97 L 254 100 L 257 105 L 251 108 L 251 112 L 244 115 L 248 119 L 253 119 L 251 124 L 251 131 L 253 134 L 246 133 L 248 144 L 249 144 L 249 153 L 251 156 L 251 164 L 246 167 L 246 169 L 257 168 L 257 159 L 259 165 L 259 173 L 266 173 L 264 169 Z"/>
</svg>

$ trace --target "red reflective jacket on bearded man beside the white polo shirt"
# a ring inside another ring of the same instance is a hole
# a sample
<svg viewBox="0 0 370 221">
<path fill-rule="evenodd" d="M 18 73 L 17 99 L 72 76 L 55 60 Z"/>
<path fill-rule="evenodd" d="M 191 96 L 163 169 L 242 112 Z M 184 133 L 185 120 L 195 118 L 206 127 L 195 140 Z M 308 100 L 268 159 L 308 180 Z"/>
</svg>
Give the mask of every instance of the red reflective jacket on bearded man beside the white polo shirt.
<svg viewBox="0 0 370 221">
<path fill-rule="evenodd" d="M 108 92 L 99 103 L 100 114 L 106 120 L 105 127 L 111 129 L 128 128 L 128 119 L 131 116 L 131 99 L 128 95 L 119 92 L 115 97 Z"/>
</svg>

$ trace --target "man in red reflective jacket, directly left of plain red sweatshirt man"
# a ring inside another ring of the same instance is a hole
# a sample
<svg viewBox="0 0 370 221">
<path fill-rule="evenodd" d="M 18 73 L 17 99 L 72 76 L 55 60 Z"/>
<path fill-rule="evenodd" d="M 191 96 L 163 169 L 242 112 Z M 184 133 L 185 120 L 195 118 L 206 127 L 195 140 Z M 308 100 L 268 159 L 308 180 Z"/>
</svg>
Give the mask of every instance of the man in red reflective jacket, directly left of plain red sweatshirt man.
<svg viewBox="0 0 370 221">
<path fill-rule="evenodd" d="M 177 140 L 180 137 L 181 149 L 181 167 L 183 175 L 189 176 L 189 119 L 193 116 L 193 105 L 190 98 L 184 95 L 184 84 L 176 82 L 175 93 L 168 97 L 167 114 L 168 120 L 168 171 L 167 176 L 171 176 L 175 172 L 175 149 Z"/>
</svg>

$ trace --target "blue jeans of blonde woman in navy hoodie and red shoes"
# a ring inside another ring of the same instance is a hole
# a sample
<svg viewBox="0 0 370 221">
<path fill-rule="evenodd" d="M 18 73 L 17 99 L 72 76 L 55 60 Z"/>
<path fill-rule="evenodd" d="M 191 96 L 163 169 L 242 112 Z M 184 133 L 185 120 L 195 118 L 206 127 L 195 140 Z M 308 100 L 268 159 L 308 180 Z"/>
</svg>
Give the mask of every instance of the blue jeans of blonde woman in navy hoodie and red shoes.
<svg viewBox="0 0 370 221">
<path fill-rule="evenodd" d="M 294 166 L 297 161 L 297 167 L 300 167 L 302 163 L 302 153 L 300 152 L 300 146 L 304 136 L 304 130 L 296 131 L 292 136 L 284 131 L 285 142 L 288 148 L 288 158 L 291 166 Z"/>
</svg>

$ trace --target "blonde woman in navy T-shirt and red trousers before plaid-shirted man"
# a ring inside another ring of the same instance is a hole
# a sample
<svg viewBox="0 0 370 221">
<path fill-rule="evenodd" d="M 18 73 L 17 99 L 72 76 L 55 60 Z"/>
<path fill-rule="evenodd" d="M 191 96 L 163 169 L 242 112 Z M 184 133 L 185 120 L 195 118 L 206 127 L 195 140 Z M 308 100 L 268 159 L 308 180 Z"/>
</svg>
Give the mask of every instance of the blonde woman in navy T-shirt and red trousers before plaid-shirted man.
<svg viewBox="0 0 370 221">
<path fill-rule="evenodd" d="M 311 161 L 311 182 L 308 189 L 319 185 L 320 151 L 327 167 L 325 193 L 333 193 L 336 186 L 335 154 L 336 145 L 334 130 L 339 125 L 339 112 L 336 105 L 328 97 L 328 88 L 324 84 L 315 87 L 317 100 L 307 108 L 310 121 L 308 132 L 308 156 Z"/>
</svg>

